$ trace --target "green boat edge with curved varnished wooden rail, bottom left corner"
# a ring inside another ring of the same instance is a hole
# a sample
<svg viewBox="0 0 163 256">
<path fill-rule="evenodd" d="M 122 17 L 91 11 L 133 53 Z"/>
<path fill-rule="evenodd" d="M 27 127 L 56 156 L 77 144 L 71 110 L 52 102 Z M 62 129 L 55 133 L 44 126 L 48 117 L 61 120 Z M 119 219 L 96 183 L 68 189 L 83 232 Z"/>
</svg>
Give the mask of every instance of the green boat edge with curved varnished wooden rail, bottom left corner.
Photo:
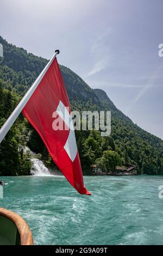
<svg viewBox="0 0 163 256">
<path fill-rule="evenodd" d="M 26 221 L 4 208 L 0 208 L 0 245 L 34 245 Z"/>
</svg>

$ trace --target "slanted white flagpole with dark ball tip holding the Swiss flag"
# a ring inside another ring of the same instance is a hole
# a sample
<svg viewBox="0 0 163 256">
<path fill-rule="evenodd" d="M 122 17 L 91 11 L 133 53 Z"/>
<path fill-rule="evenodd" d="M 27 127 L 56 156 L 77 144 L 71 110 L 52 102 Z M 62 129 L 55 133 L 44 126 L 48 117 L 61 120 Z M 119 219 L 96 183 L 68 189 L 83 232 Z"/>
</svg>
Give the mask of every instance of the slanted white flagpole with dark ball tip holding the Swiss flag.
<svg viewBox="0 0 163 256">
<path fill-rule="evenodd" d="M 28 102 L 28 100 L 30 99 L 32 94 L 34 93 L 35 89 L 37 88 L 37 86 L 41 82 L 42 77 L 45 75 L 46 71 L 48 70 L 49 66 L 52 64 L 52 62 L 53 62 L 54 58 L 57 56 L 57 54 L 59 54 L 59 50 L 55 51 L 55 53 L 54 53 L 53 57 L 51 58 L 51 60 L 49 60 L 48 64 L 42 70 L 40 75 L 36 78 L 36 80 L 33 83 L 33 85 L 29 88 L 27 93 L 24 95 L 22 100 L 18 103 L 18 105 L 14 109 L 14 111 L 10 114 L 9 118 L 5 121 L 4 125 L 2 126 L 2 128 L 0 130 L 0 143 L 4 139 L 5 135 L 7 135 L 8 131 L 10 130 L 10 128 L 12 126 L 12 124 L 14 124 L 16 118 L 21 113 L 22 109 L 24 108 L 24 106 L 26 105 L 26 103 Z"/>
</svg>

